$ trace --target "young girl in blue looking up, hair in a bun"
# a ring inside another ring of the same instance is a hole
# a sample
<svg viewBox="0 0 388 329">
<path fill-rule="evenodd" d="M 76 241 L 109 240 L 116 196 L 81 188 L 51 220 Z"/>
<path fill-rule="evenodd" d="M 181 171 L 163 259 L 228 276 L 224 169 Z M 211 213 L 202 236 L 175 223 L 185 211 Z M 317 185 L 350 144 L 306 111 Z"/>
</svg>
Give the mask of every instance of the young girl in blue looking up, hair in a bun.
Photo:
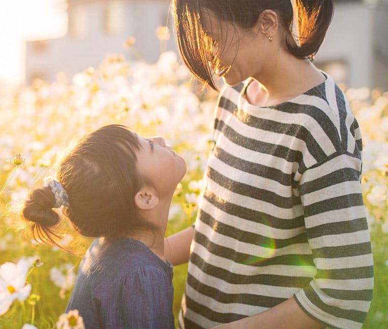
<svg viewBox="0 0 388 329">
<path fill-rule="evenodd" d="M 67 310 L 86 328 L 174 328 L 173 269 L 163 255 L 183 158 L 160 137 L 111 125 L 85 136 L 25 202 L 35 239 L 56 241 L 63 205 L 78 233 L 96 237 L 79 267 Z"/>
</svg>

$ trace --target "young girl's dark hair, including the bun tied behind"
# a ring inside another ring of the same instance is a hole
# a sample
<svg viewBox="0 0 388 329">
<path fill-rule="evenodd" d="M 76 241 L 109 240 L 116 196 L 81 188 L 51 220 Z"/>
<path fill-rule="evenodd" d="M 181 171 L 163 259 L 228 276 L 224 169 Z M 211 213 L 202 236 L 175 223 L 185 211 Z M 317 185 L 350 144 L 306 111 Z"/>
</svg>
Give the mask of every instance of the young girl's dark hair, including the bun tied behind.
<svg viewBox="0 0 388 329">
<path fill-rule="evenodd" d="M 140 227 L 155 229 L 139 216 L 134 201 L 143 184 L 152 184 L 136 169 L 140 148 L 135 133 L 110 125 L 83 137 L 62 160 L 57 180 L 69 199 L 63 213 L 79 234 L 109 240 Z M 54 205 L 50 187 L 36 188 L 24 204 L 22 217 L 29 221 L 36 241 L 62 248 L 56 231 L 60 217 Z"/>
</svg>

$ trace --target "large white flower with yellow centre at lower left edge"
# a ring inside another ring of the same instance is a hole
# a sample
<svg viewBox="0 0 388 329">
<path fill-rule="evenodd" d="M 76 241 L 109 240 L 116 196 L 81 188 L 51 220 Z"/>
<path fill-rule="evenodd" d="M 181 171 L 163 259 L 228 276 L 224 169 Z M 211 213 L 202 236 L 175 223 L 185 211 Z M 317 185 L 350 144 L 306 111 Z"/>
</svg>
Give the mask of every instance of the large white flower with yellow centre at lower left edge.
<svg viewBox="0 0 388 329">
<path fill-rule="evenodd" d="M 0 315 L 8 311 L 18 299 L 24 301 L 31 293 L 31 284 L 26 284 L 29 264 L 24 259 L 17 264 L 7 262 L 0 266 Z"/>
</svg>

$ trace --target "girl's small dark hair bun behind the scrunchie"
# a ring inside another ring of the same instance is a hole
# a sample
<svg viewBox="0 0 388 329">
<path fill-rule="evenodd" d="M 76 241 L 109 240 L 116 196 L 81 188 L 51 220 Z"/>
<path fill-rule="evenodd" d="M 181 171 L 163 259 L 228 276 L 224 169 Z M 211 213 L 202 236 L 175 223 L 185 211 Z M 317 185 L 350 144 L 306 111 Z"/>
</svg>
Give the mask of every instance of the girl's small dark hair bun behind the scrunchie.
<svg viewBox="0 0 388 329">
<path fill-rule="evenodd" d="M 39 224 L 42 228 L 55 226 L 59 223 L 59 215 L 53 210 L 55 197 L 50 187 L 34 189 L 22 209 L 23 217 Z"/>
</svg>

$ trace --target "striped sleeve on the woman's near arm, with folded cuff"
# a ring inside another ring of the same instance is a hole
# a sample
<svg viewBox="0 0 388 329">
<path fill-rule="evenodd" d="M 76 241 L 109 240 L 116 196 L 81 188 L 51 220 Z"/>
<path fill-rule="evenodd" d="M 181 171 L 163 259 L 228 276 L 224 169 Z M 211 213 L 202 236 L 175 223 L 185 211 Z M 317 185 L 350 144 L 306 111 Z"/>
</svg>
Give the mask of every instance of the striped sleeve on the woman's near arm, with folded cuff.
<svg viewBox="0 0 388 329">
<path fill-rule="evenodd" d="M 331 328 L 361 328 L 373 290 L 373 259 L 360 186 L 361 159 L 334 153 L 307 169 L 298 191 L 316 273 L 294 298 Z"/>
</svg>

